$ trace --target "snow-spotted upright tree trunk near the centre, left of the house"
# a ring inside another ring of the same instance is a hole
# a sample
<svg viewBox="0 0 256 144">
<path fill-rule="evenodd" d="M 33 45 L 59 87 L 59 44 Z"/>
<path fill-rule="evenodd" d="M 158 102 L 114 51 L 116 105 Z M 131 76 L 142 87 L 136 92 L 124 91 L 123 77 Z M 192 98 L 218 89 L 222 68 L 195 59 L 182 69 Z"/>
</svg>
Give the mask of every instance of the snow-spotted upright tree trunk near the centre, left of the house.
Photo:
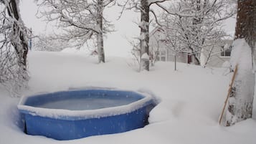
<svg viewBox="0 0 256 144">
<path fill-rule="evenodd" d="M 141 0 L 141 57 L 143 55 L 149 56 L 148 42 L 149 42 L 149 5 L 148 0 Z M 141 59 L 142 69 L 149 71 L 149 59 L 143 57 Z"/>
</svg>

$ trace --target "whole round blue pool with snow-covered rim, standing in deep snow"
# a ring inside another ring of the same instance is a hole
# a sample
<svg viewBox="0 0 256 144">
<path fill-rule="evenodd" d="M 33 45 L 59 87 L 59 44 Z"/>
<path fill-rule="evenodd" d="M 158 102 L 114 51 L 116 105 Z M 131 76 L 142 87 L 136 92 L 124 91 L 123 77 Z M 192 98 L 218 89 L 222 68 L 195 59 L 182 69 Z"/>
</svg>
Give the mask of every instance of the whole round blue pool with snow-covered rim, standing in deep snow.
<svg viewBox="0 0 256 144">
<path fill-rule="evenodd" d="M 22 97 L 18 108 L 27 134 L 72 140 L 143 128 L 155 105 L 146 93 L 91 89 Z"/>
</svg>

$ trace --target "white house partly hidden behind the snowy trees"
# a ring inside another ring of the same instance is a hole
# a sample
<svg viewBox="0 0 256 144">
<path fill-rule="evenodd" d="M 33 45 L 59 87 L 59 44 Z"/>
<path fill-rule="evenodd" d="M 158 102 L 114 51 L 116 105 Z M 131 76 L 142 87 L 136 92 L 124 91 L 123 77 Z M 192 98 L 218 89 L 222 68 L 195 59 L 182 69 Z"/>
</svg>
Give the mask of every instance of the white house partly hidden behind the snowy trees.
<svg viewBox="0 0 256 144">
<path fill-rule="evenodd" d="M 149 50 L 151 52 L 151 57 L 156 57 L 156 61 L 171 61 L 174 62 L 175 52 L 169 49 L 167 44 L 164 42 L 163 29 L 155 28 L 149 34 Z M 209 67 L 222 67 L 222 64 L 229 61 L 230 53 L 232 50 L 232 40 L 225 39 L 219 42 L 218 45 L 212 50 L 212 56 L 207 62 Z M 207 52 L 202 52 L 200 56 L 200 61 L 204 64 L 207 60 Z M 191 56 L 188 53 L 181 52 L 176 55 L 176 62 L 190 63 Z"/>
</svg>

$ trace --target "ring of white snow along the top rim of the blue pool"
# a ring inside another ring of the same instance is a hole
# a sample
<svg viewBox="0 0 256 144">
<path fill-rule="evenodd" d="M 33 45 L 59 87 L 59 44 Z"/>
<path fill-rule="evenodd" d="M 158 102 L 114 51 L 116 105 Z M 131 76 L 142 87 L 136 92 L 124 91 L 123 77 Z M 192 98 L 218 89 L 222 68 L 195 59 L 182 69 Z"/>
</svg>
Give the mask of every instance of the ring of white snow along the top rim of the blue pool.
<svg viewBox="0 0 256 144">
<path fill-rule="evenodd" d="M 29 97 L 39 97 L 47 94 L 54 94 L 57 92 L 74 92 L 81 90 L 106 90 L 106 91 L 117 91 L 117 92 L 135 92 L 138 95 L 141 95 L 143 98 L 137 100 L 136 102 L 131 102 L 128 105 L 120 105 L 115 107 L 105 107 L 95 110 L 63 110 L 63 109 L 52 109 L 52 108 L 42 108 L 42 107 L 32 107 L 29 105 L 24 105 Z M 109 88 L 85 88 L 85 89 L 75 89 L 75 90 L 62 90 L 57 92 L 45 92 L 40 93 L 39 95 L 29 95 L 23 96 L 18 104 L 18 109 L 24 114 L 49 117 L 60 120 L 86 120 L 91 118 L 100 118 L 100 117 L 109 117 L 114 115 L 122 115 L 125 113 L 133 112 L 138 110 L 146 105 L 154 104 L 156 105 L 157 100 L 153 95 L 150 95 L 148 92 L 138 92 L 134 90 L 119 90 L 119 89 L 109 89 Z"/>
</svg>

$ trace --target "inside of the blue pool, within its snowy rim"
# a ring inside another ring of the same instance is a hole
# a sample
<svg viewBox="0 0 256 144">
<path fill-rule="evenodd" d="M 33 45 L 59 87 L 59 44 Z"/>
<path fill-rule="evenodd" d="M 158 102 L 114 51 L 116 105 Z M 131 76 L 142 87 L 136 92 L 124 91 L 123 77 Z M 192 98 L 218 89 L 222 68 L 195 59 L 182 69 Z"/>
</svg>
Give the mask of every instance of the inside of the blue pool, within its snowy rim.
<svg viewBox="0 0 256 144">
<path fill-rule="evenodd" d="M 85 92 L 84 90 L 79 92 L 55 92 L 52 95 L 29 97 L 24 105 L 63 110 L 96 110 L 128 105 L 141 99 L 143 97 L 135 92 L 106 92 L 104 90 L 86 90 Z"/>
</svg>

